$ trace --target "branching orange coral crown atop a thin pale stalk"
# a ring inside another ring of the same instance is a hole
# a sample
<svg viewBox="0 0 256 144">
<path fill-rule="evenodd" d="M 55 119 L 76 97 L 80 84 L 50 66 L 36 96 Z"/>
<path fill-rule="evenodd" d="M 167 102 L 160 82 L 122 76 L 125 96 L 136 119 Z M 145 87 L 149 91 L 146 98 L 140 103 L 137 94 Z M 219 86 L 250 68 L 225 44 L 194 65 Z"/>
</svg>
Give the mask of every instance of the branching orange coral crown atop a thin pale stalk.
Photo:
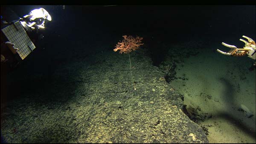
<svg viewBox="0 0 256 144">
<path fill-rule="evenodd" d="M 118 42 L 115 46 L 115 49 L 113 49 L 115 52 L 117 50 L 120 50 L 120 54 L 124 53 L 128 53 L 131 51 L 135 51 L 136 49 L 139 49 L 139 47 L 141 45 L 143 45 L 144 43 L 141 42 L 141 40 L 143 40 L 143 37 L 132 37 L 131 35 L 127 37 L 127 35 L 123 35 L 122 37 L 124 37 L 124 39 L 122 40 L 122 42 Z"/>
</svg>

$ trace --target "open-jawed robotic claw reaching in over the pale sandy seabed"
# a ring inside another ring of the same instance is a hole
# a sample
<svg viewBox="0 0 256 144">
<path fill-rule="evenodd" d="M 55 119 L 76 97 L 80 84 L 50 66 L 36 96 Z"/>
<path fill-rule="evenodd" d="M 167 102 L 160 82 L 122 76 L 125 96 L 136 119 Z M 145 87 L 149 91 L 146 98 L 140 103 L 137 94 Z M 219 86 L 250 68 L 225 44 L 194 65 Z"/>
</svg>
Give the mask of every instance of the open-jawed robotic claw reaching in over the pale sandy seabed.
<svg viewBox="0 0 256 144">
<path fill-rule="evenodd" d="M 240 40 L 245 43 L 244 48 L 239 49 L 236 46 L 229 45 L 227 43 L 222 42 L 221 43 L 222 45 L 231 48 L 230 51 L 222 52 L 219 49 L 217 49 L 217 51 L 224 55 L 232 55 L 232 56 L 237 56 L 237 57 L 247 55 L 249 58 L 252 58 L 255 60 L 256 59 L 256 43 L 255 43 L 255 41 L 253 39 L 251 39 L 250 37 L 247 37 L 244 35 L 242 37 L 247 39 L 247 41 L 246 41 L 246 40 L 243 40 L 240 38 Z M 256 66 L 256 62 L 253 65 Z"/>
</svg>

